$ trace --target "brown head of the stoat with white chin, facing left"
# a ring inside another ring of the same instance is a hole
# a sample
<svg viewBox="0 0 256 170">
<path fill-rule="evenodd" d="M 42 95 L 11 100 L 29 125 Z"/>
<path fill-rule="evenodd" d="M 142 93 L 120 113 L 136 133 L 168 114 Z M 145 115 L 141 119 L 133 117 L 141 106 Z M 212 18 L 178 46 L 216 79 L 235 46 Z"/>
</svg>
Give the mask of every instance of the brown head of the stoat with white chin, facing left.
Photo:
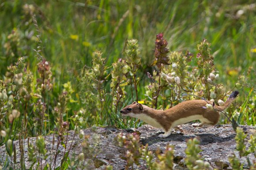
<svg viewBox="0 0 256 170">
<path fill-rule="evenodd" d="M 137 117 L 136 115 L 142 113 L 142 111 L 143 105 L 134 101 L 131 105 L 127 105 L 123 109 L 121 109 L 120 113 L 125 116 Z"/>
</svg>

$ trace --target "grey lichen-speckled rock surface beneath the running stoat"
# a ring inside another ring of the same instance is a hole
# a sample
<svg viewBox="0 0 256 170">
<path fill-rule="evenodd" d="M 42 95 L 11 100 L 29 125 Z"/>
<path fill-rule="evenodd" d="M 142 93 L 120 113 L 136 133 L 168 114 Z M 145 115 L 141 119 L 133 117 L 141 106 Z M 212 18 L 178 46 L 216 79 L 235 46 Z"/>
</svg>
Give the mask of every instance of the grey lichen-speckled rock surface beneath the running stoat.
<svg viewBox="0 0 256 170">
<path fill-rule="evenodd" d="M 91 165 L 87 166 L 87 169 L 105 169 L 106 165 L 112 165 L 113 169 L 121 170 L 125 168 L 126 161 L 124 160 L 124 155 L 126 148 L 121 148 L 118 146 L 116 137 L 117 134 L 123 132 L 124 134 L 129 134 L 134 131 L 139 131 L 140 140 L 143 145 L 149 144 L 149 150 L 156 151 L 160 148 L 162 151 L 165 150 L 166 145 L 169 143 L 175 146 L 174 154 L 174 169 L 185 169 L 184 168 L 184 150 L 186 148 L 186 141 L 190 138 L 197 137 L 200 140 L 200 147 L 203 150 L 200 155 L 208 161 L 212 168 L 217 169 L 231 169 L 230 163 L 228 161 L 228 156 L 233 152 L 238 156 L 238 152 L 235 151 L 235 131 L 232 129 L 231 125 L 219 125 L 215 127 L 208 127 L 206 129 L 199 127 L 192 127 L 191 124 L 181 125 L 183 128 L 183 133 L 173 130 L 173 133 L 167 138 L 158 138 L 158 134 L 162 133 L 162 130 L 151 127 L 150 125 L 144 125 L 138 129 L 120 130 L 115 127 L 91 127 L 84 130 L 85 135 L 89 135 L 88 143 L 90 149 L 88 151 L 88 156 L 92 156 Z M 241 126 L 247 137 L 245 139 L 246 147 L 248 148 L 249 135 L 256 133 L 256 130 L 252 126 Z M 49 163 L 53 168 L 53 158 L 56 153 L 56 136 L 55 142 L 53 143 L 53 135 L 45 136 L 45 148 L 47 150 L 47 158 L 42 161 L 45 165 Z M 35 143 L 36 138 L 31 137 L 30 142 Z M 74 134 L 74 131 L 69 131 L 68 140 L 66 143 L 67 150 L 70 148 L 69 157 L 79 155 L 82 152 L 82 139 L 79 138 L 78 134 Z M 24 140 L 24 152 L 25 152 L 25 164 L 26 168 L 30 167 L 30 162 L 28 161 L 28 148 L 27 140 Z M 17 164 L 16 168 L 19 168 L 20 162 L 20 151 L 19 151 L 19 141 L 15 141 Z M 56 167 L 60 166 L 61 159 L 64 156 L 65 149 L 63 146 L 59 146 L 59 154 L 56 157 Z M 255 157 L 252 154 L 248 155 L 248 158 L 252 162 Z M 6 160 L 11 160 L 6 152 L 5 145 L 0 147 L 0 165 L 4 166 Z M 88 160 L 88 159 L 86 159 Z M 245 158 L 241 159 L 244 163 L 244 168 L 246 169 L 248 163 Z M 10 166 L 14 164 L 10 163 Z M 136 167 L 138 169 L 145 169 L 146 166 Z"/>
</svg>

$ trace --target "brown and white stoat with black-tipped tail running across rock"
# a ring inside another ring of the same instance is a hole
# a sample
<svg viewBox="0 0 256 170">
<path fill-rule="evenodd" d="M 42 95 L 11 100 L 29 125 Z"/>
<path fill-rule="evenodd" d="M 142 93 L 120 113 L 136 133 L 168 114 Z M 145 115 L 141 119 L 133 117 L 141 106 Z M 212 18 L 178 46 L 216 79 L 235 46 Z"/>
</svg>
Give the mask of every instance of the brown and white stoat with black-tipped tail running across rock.
<svg viewBox="0 0 256 170">
<path fill-rule="evenodd" d="M 238 94 L 238 91 L 233 91 L 223 106 L 214 105 L 212 101 L 189 100 L 167 110 L 156 110 L 134 101 L 131 105 L 121 109 L 120 112 L 125 116 L 141 119 L 153 127 L 164 130 L 165 133 L 158 135 L 158 137 L 166 138 L 171 134 L 172 128 L 182 131 L 178 125 L 193 120 L 200 120 L 201 122 L 192 124 L 193 127 L 207 128 L 214 126 L 218 123 L 220 117 L 218 111 L 228 108 Z M 206 107 L 207 103 L 213 105 L 213 109 L 208 109 Z"/>
</svg>

